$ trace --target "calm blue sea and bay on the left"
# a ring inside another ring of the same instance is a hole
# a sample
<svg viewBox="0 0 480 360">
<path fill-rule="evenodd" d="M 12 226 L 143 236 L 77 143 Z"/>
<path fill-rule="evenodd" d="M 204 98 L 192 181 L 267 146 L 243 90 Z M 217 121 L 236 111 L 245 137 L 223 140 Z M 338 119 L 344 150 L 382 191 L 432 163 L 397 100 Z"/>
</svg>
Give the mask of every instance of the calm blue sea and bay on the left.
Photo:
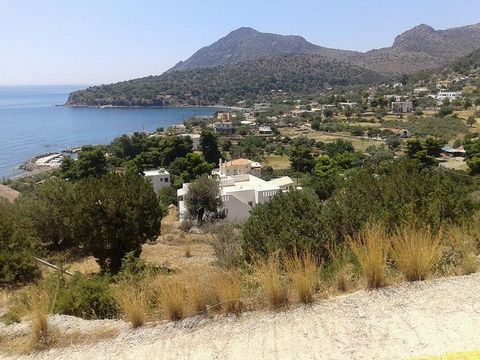
<svg viewBox="0 0 480 360">
<path fill-rule="evenodd" d="M 90 109 L 64 104 L 85 86 L 0 87 L 0 178 L 32 157 L 70 146 L 107 144 L 116 136 L 178 124 L 213 108 Z"/>
</svg>

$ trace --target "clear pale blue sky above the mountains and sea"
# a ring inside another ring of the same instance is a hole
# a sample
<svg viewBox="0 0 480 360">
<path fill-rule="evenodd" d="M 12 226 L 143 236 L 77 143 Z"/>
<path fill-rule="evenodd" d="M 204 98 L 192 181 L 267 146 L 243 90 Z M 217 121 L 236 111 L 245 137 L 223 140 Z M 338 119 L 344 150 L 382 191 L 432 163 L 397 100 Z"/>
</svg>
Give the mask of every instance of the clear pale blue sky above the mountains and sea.
<svg viewBox="0 0 480 360">
<path fill-rule="evenodd" d="M 0 85 L 159 75 L 241 26 L 367 51 L 479 22 L 480 0 L 0 0 Z"/>
</svg>

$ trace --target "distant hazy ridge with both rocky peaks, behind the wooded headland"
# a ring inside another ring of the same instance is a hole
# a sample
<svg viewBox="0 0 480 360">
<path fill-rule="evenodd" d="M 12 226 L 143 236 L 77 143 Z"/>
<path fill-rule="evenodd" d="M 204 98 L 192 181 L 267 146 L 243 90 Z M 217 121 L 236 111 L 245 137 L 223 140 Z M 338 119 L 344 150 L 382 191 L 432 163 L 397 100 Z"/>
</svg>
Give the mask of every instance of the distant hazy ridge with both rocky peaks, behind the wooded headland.
<svg viewBox="0 0 480 360">
<path fill-rule="evenodd" d="M 395 37 L 392 46 L 367 52 L 322 47 L 298 35 L 233 30 L 168 71 L 232 65 L 280 54 L 317 54 L 382 74 L 412 73 L 440 66 L 480 48 L 480 24 L 435 30 L 417 25 Z"/>
</svg>

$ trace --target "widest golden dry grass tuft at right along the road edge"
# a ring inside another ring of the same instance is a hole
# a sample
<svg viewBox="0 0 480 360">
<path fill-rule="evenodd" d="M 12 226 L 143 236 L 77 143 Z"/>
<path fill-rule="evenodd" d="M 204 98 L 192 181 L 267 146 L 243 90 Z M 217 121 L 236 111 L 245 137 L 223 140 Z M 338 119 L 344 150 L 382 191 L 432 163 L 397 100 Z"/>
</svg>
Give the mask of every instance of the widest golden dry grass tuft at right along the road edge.
<svg viewBox="0 0 480 360">
<path fill-rule="evenodd" d="M 440 236 L 406 227 L 393 236 L 391 257 L 408 281 L 424 280 L 440 257 Z"/>
</svg>

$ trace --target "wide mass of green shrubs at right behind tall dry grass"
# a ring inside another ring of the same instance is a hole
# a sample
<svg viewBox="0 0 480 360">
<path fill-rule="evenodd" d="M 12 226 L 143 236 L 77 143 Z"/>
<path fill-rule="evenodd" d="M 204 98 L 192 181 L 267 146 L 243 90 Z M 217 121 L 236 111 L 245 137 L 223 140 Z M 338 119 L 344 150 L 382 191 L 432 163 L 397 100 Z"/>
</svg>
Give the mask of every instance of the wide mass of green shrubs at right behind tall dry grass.
<svg viewBox="0 0 480 360">
<path fill-rule="evenodd" d="M 381 221 L 387 232 L 399 223 L 430 226 L 458 224 L 471 217 L 473 203 L 463 178 L 441 169 L 421 169 L 403 160 L 376 174 L 362 169 L 322 207 L 322 230 L 329 242 L 341 243 L 369 222 Z M 317 230 L 318 231 L 318 230 Z"/>
</svg>

